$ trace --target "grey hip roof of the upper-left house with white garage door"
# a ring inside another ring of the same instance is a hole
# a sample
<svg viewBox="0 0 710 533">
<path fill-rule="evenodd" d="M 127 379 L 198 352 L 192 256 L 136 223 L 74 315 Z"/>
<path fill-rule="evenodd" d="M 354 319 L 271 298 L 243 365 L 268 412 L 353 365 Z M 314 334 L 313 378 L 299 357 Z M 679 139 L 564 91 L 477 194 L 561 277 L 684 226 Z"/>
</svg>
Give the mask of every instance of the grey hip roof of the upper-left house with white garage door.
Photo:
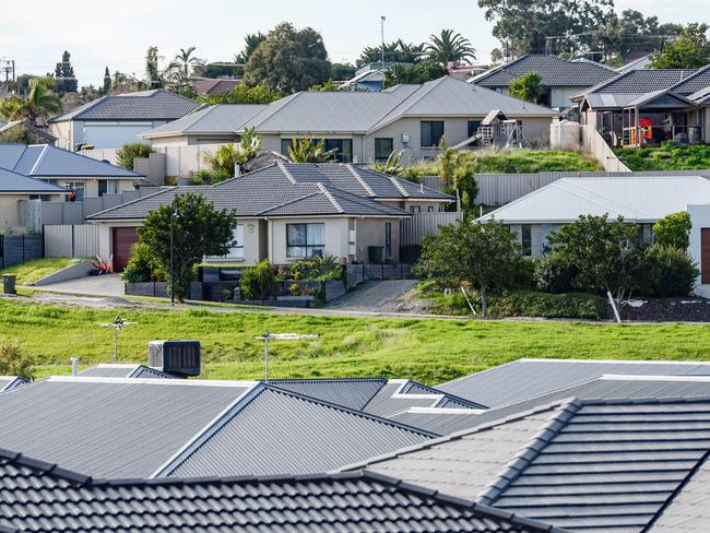
<svg viewBox="0 0 710 533">
<path fill-rule="evenodd" d="M 162 88 L 104 96 L 49 120 L 175 120 L 201 104 Z"/>
</svg>

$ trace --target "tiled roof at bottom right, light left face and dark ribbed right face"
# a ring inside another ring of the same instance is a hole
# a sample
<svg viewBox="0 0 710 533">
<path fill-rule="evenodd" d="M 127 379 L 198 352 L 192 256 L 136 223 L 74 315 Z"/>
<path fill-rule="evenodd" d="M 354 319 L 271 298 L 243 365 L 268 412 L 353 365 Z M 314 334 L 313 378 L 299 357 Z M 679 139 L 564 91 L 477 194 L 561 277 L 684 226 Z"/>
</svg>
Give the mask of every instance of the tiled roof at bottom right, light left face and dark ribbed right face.
<svg viewBox="0 0 710 533">
<path fill-rule="evenodd" d="M 708 398 L 570 399 L 369 467 L 460 497 L 475 491 L 484 505 L 569 531 L 640 533 L 673 512 L 674 499 L 705 462 L 708 421 Z M 484 435 L 500 445 L 481 451 Z M 494 464 L 486 471 L 480 461 Z"/>
</svg>

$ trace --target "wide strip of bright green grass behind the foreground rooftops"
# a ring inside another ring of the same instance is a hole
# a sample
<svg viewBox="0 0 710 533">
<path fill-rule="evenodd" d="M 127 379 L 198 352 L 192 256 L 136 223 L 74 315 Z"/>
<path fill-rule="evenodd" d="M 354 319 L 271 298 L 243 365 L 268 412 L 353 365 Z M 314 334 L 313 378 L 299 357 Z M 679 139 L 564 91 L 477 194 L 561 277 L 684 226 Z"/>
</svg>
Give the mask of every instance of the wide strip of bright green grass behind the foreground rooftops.
<svg viewBox="0 0 710 533">
<path fill-rule="evenodd" d="M 69 358 L 106 363 L 116 312 L 0 299 L 0 336 L 37 357 L 37 377 L 69 374 Z M 573 323 L 363 319 L 197 310 L 127 310 L 121 362 L 144 363 L 147 342 L 202 342 L 204 378 L 263 377 L 263 344 L 273 332 L 318 333 L 272 343 L 272 377 L 409 377 L 435 384 L 520 357 L 710 360 L 710 324 Z"/>
</svg>

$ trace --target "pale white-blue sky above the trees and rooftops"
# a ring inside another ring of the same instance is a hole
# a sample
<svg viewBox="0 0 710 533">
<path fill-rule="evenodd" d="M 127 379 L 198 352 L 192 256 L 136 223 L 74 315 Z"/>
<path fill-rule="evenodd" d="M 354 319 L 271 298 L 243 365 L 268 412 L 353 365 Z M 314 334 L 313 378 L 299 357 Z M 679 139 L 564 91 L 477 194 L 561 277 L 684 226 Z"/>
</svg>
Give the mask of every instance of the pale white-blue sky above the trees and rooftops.
<svg viewBox="0 0 710 533">
<path fill-rule="evenodd" d="M 482 61 L 497 46 L 493 23 L 475 0 L 0 0 L 2 4 L 12 4 L 12 16 L 0 17 L 0 58 L 14 59 L 17 74 L 44 74 L 69 50 L 80 85 L 100 85 L 106 66 L 111 73 L 140 78 L 149 46 L 157 46 L 165 61 L 190 46 L 200 58 L 229 61 L 247 33 L 265 33 L 284 21 L 319 31 L 331 61 L 354 61 L 364 46 L 376 46 L 381 15 L 387 17 L 386 40 L 419 43 L 453 28 L 471 40 Z M 708 0 L 616 0 L 616 10 L 624 9 L 662 22 L 710 22 Z"/>
</svg>

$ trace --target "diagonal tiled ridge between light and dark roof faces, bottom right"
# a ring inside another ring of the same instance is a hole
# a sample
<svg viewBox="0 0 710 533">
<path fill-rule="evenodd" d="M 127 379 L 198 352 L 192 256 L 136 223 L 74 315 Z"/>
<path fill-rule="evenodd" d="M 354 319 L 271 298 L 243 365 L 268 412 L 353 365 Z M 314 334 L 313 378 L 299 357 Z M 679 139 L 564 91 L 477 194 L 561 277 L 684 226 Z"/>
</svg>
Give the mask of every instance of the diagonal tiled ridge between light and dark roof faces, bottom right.
<svg viewBox="0 0 710 533">
<path fill-rule="evenodd" d="M 494 477 L 478 495 L 476 500 L 484 505 L 493 505 L 500 496 L 520 477 L 524 470 L 540 455 L 559 431 L 580 410 L 582 403 L 570 399 L 561 405 L 555 415 L 543 425 L 541 430 L 532 437 L 525 446 L 506 464 L 504 470 Z"/>
</svg>

